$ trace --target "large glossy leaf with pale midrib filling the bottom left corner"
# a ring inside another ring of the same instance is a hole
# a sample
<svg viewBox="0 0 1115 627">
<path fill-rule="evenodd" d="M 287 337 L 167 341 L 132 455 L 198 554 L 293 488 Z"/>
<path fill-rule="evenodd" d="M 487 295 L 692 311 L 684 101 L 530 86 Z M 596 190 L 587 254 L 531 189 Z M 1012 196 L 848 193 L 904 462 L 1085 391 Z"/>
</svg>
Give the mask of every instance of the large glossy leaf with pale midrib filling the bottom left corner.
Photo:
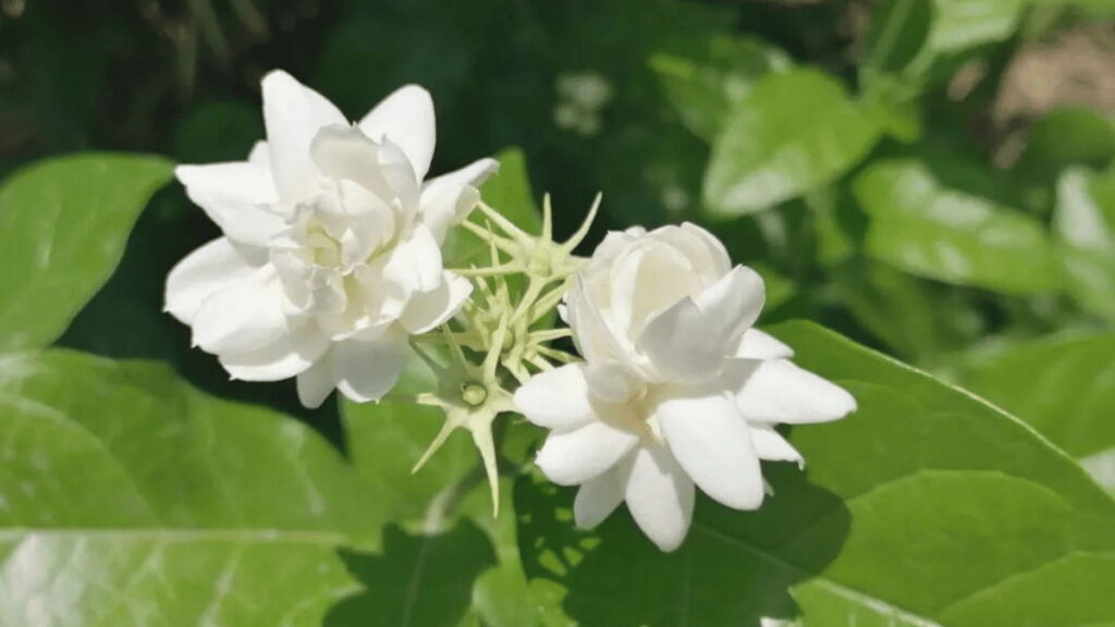
<svg viewBox="0 0 1115 627">
<path fill-rule="evenodd" d="M 378 529 L 306 426 L 163 366 L 0 360 L 0 624 L 317 626 Z"/>
</svg>

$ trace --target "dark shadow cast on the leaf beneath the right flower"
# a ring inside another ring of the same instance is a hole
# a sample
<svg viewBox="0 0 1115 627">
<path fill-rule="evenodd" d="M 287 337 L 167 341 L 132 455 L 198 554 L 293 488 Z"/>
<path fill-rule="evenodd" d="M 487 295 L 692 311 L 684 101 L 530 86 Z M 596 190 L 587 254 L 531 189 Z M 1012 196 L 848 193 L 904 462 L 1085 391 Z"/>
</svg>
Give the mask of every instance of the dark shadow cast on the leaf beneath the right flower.
<svg viewBox="0 0 1115 627">
<path fill-rule="evenodd" d="M 776 496 L 762 510 L 738 512 L 700 496 L 675 553 L 655 548 L 622 507 L 593 531 L 576 529 L 573 492 L 524 474 L 515 483 L 524 569 L 562 585 L 565 612 L 585 627 L 793 620 L 799 612 L 789 588 L 836 557 L 849 512 L 791 464 L 765 464 L 764 473 Z"/>
</svg>

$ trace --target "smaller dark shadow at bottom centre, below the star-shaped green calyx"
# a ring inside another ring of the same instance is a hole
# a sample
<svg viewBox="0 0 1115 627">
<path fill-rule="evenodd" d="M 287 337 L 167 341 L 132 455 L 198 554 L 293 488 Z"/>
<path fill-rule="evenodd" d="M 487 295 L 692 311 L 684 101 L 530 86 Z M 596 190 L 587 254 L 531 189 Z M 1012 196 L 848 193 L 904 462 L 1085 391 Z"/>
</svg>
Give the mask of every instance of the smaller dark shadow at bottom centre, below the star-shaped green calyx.
<svg viewBox="0 0 1115 627">
<path fill-rule="evenodd" d="M 336 605 L 324 627 L 445 627 L 460 623 L 473 583 L 495 553 L 469 521 L 435 536 L 384 530 L 379 553 L 342 551 L 341 558 L 365 590 Z"/>
</svg>

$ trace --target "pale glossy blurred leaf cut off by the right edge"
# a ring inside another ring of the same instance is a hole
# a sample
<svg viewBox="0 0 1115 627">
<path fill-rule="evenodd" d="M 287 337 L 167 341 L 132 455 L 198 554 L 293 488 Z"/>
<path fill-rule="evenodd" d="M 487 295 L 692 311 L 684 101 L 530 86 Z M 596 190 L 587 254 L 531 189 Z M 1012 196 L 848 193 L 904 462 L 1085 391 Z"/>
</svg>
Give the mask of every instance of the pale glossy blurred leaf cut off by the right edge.
<svg viewBox="0 0 1115 627">
<path fill-rule="evenodd" d="M 1057 182 L 1057 250 L 1068 292 L 1088 311 L 1115 321 L 1115 168 L 1069 170 Z"/>
</svg>

